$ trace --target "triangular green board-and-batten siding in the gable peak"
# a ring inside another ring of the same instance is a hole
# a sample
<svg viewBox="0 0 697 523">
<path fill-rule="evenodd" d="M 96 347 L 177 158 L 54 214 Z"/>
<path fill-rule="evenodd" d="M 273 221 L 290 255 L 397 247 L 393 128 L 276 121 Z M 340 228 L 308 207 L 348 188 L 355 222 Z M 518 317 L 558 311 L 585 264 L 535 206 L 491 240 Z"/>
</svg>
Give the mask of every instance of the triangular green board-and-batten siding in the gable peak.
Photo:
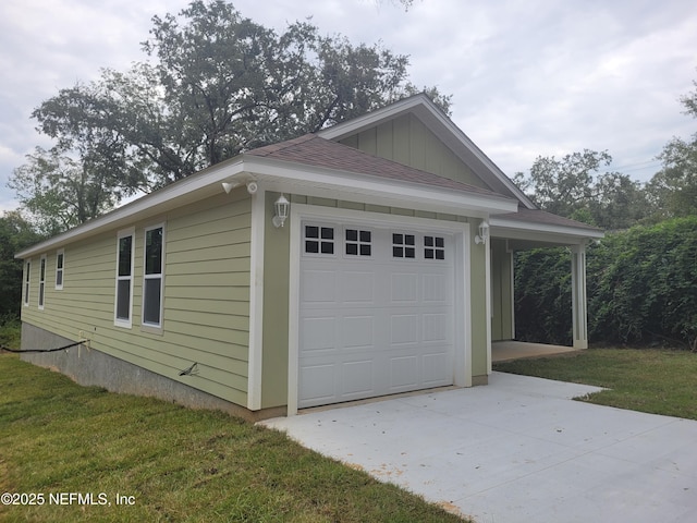
<svg viewBox="0 0 697 523">
<path fill-rule="evenodd" d="M 490 188 L 413 114 L 398 117 L 340 143 L 414 169 Z"/>
</svg>

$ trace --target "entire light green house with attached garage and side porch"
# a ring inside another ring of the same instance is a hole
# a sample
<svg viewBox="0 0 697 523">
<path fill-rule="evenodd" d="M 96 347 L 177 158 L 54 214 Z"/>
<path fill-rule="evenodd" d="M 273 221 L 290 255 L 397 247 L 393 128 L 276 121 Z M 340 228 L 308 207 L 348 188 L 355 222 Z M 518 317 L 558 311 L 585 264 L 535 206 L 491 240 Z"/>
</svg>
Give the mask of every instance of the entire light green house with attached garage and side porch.
<svg viewBox="0 0 697 523">
<path fill-rule="evenodd" d="M 23 348 L 80 345 L 23 357 L 252 419 L 484 385 L 492 325 L 514 336 L 512 248 L 572 246 L 582 344 L 601 235 L 535 209 L 418 95 L 19 253 Z"/>
</svg>

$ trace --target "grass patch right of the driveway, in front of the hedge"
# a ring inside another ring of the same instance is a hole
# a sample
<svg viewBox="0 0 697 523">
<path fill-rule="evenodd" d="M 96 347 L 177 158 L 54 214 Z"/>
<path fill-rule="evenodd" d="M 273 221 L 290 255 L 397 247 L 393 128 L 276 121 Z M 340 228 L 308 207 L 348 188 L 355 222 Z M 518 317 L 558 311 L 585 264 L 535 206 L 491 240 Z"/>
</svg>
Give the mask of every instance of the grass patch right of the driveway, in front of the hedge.
<svg viewBox="0 0 697 523">
<path fill-rule="evenodd" d="M 697 419 L 697 354 L 686 351 L 589 349 L 497 363 L 493 369 L 606 387 L 583 401 Z"/>
</svg>

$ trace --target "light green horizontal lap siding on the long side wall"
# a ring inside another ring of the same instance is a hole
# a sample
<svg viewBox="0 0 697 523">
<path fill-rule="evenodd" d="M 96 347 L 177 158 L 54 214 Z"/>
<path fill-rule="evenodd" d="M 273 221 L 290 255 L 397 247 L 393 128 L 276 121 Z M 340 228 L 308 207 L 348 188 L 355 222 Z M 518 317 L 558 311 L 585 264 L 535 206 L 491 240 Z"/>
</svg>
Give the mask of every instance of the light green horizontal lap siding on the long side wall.
<svg viewBox="0 0 697 523">
<path fill-rule="evenodd" d="M 244 406 L 250 209 L 246 191 L 235 191 L 135 223 L 131 328 L 114 325 L 117 230 L 64 245 L 62 290 L 52 284 L 56 252 L 47 253 L 44 311 L 35 292 L 40 256 L 33 258 L 32 296 L 22 320 L 68 339 L 89 339 L 91 349 Z M 163 315 L 161 332 L 152 332 L 142 328 L 140 316 L 144 228 L 158 223 L 166 242 Z M 193 363 L 197 374 L 180 377 Z"/>
</svg>

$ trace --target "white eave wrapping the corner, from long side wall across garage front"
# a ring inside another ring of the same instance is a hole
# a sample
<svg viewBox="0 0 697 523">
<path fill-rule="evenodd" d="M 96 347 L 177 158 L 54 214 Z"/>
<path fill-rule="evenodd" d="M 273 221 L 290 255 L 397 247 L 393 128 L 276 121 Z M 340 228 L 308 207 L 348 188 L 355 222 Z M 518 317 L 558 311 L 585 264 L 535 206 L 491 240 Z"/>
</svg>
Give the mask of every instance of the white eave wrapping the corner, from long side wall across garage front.
<svg viewBox="0 0 697 523">
<path fill-rule="evenodd" d="M 294 163 L 267 157 L 241 155 L 143 196 L 15 255 L 25 259 L 159 217 L 170 210 L 223 192 L 222 183 L 243 186 L 254 180 L 259 191 L 288 192 L 322 198 L 486 218 L 514 212 L 517 202 L 494 193 L 456 191 L 424 183 L 389 180 L 356 172 Z"/>
</svg>

